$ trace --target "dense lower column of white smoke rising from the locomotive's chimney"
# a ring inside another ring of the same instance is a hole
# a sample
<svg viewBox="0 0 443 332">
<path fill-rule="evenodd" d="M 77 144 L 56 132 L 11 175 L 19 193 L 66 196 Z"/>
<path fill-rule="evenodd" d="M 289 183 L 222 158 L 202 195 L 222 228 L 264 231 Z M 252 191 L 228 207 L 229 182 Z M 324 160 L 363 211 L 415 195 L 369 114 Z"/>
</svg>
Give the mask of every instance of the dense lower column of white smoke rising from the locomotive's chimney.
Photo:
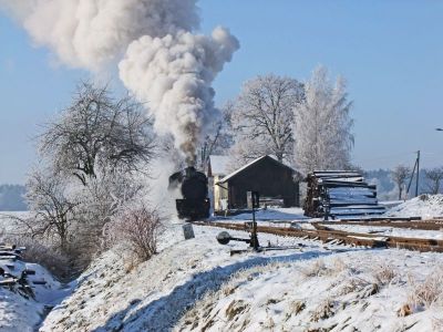
<svg viewBox="0 0 443 332">
<path fill-rule="evenodd" d="M 144 35 L 120 63 L 123 83 L 141 101 L 148 101 L 155 129 L 172 133 L 189 162 L 202 129 L 218 116 L 210 83 L 237 48 L 237 40 L 223 28 L 212 37 L 185 31 L 164 38 Z"/>
</svg>

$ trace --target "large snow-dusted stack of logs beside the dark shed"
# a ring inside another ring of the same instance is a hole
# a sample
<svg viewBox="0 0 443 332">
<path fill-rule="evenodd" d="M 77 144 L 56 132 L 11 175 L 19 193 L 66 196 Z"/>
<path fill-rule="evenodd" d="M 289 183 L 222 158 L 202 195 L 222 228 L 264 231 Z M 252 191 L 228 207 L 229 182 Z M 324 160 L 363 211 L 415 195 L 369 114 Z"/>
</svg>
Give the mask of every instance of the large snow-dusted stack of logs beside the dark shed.
<svg viewBox="0 0 443 332">
<path fill-rule="evenodd" d="M 308 217 L 346 217 L 380 215 L 385 211 L 377 199 L 377 187 L 364 181 L 358 172 L 322 170 L 307 177 L 305 215 Z"/>
</svg>

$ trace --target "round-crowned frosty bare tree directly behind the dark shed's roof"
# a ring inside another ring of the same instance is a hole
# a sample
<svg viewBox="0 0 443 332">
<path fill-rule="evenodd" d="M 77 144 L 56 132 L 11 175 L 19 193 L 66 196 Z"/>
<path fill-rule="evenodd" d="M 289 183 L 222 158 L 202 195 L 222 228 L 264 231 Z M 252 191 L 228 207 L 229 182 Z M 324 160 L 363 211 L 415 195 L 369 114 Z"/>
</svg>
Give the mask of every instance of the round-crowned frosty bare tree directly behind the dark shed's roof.
<svg viewBox="0 0 443 332">
<path fill-rule="evenodd" d="M 233 157 L 245 163 L 272 154 L 282 162 L 291 154 L 292 108 L 302 95 L 302 85 L 290 77 L 269 74 L 247 81 L 230 110 Z"/>
</svg>

